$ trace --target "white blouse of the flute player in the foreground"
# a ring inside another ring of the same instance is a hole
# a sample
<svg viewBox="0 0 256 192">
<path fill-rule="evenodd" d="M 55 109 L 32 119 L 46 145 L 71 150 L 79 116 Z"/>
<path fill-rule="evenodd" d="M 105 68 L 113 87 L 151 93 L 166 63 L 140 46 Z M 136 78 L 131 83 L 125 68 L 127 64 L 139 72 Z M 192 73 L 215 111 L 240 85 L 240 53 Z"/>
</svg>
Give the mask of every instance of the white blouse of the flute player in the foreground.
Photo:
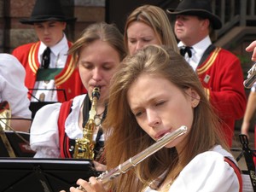
<svg viewBox="0 0 256 192">
<path fill-rule="evenodd" d="M 221 146 L 195 156 L 183 168 L 172 183 L 169 192 L 238 192 L 239 181 L 234 169 L 224 161 L 224 156 L 234 160 L 233 156 Z M 145 192 L 155 192 L 149 187 Z"/>
</svg>

